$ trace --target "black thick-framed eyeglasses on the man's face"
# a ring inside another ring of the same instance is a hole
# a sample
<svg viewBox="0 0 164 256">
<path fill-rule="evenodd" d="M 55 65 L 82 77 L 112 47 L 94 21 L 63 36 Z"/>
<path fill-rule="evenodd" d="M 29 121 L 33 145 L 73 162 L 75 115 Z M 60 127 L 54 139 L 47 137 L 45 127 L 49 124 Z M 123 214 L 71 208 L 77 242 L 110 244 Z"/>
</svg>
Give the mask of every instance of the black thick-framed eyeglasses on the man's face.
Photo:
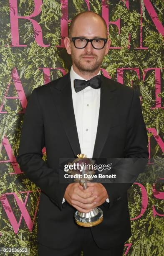
<svg viewBox="0 0 164 256">
<path fill-rule="evenodd" d="M 72 37 L 73 44 L 78 49 L 85 48 L 88 42 L 91 42 L 94 49 L 101 50 L 105 46 L 107 40 L 107 38 L 87 39 L 84 37 Z"/>
</svg>

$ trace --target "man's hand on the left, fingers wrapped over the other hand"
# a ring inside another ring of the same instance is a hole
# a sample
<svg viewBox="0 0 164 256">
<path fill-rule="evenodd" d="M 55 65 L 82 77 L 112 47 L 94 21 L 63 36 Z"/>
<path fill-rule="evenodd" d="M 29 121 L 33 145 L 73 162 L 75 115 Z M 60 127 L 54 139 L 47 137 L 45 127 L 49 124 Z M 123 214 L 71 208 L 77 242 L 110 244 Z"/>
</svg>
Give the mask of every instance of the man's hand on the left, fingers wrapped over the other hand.
<svg viewBox="0 0 164 256">
<path fill-rule="evenodd" d="M 64 198 L 66 201 L 75 207 L 79 212 L 90 212 L 96 205 L 95 188 L 88 187 L 83 189 L 79 183 L 71 183 L 67 186 Z M 98 195 L 101 191 L 98 190 Z M 94 195 L 93 195 L 94 194 Z"/>
</svg>

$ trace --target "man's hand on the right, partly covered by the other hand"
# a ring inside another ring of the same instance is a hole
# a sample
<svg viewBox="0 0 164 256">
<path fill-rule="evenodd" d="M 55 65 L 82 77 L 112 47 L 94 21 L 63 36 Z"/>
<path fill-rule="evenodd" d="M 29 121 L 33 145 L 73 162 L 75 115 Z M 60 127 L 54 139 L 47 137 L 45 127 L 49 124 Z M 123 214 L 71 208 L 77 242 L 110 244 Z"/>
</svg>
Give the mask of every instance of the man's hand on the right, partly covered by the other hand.
<svg viewBox="0 0 164 256">
<path fill-rule="evenodd" d="M 106 201 L 106 199 L 109 198 L 106 188 L 101 183 L 88 182 L 87 187 L 88 192 L 91 191 L 93 192 L 94 196 L 97 196 L 95 200 L 96 204 L 94 207 L 102 205 Z"/>
</svg>

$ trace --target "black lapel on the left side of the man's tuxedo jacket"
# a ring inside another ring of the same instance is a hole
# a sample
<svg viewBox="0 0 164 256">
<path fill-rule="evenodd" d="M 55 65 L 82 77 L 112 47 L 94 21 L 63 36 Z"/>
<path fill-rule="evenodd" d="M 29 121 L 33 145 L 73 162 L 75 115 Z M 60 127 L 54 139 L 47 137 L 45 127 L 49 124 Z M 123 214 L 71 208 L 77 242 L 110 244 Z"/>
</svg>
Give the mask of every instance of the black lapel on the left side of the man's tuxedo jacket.
<svg viewBox="0 0 164 256">
<path fill-rule="evenodd" d="M 58 114 L 63 122 L 66 136 L 76 157 L 77 154 L 81 154 L 81 149 L 73 110 L 70 72 L 59 79 L 57 84 L 53 84 L 50 90 Z"/>
</svg>

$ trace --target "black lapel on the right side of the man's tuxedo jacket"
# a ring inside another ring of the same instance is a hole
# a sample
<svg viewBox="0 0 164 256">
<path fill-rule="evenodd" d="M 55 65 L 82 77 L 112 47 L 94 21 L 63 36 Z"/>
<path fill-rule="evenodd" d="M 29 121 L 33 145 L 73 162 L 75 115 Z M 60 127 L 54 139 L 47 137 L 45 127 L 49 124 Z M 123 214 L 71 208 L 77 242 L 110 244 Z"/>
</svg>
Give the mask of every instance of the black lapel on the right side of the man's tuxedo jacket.
<svg viewBox="0 0 164 256">
<path fill-rule="evenodd" d="M 114 81 L 101 74 L 100 110 L 93 158 L 99 158 L 106 143 L 116 104 Z"/>
</svg>

